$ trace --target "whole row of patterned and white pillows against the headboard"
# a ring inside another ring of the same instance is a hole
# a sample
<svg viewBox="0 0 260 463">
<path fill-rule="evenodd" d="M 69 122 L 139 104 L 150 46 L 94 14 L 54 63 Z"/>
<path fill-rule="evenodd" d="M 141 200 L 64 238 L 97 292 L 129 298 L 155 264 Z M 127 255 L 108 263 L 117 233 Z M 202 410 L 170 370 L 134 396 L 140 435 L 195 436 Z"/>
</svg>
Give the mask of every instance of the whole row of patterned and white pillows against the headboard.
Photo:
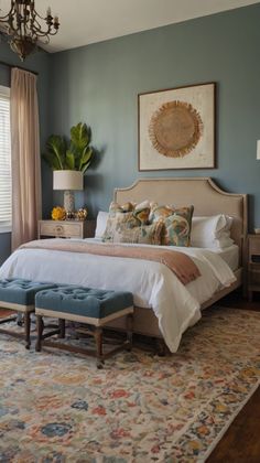
<svg viewBox="0 0 260 463">
<path fill-rule="evenodd" d="M 193 217 L 193 206 L 175 209 L 148 201 L 122 206 L 111 203 L 109 213 L 98 213 L 95 236 L 110 243 L 225 249 L 234 244 L 231 225 L 232 217 L 225 214 Z"/>
</svg>

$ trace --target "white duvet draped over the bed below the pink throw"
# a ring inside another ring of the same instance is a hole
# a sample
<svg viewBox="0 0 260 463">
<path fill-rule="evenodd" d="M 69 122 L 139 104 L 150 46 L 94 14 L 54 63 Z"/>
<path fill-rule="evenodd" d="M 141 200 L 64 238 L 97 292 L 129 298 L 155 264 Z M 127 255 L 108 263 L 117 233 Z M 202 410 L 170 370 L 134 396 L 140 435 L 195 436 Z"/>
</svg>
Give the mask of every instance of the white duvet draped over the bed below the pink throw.
<svg viewBox="0 0 260 463">
<path fill-rule="evenodd" d="M 68 251 L 18 249 L 0 268 L 0 278 L 19 277 L 131 291 L 134 305 L 154 311 L 166 345 L 171 352 L 176 352 L 184 331 L 199 320 L 201 304 L 220 288 L 230 286 L 236 278 L 221 257 L 210 250 L 176 247 L 173 250 L 191 256 L 201 277 L 183 286 L 166 266 L 159 262 Z"/>
</svg>

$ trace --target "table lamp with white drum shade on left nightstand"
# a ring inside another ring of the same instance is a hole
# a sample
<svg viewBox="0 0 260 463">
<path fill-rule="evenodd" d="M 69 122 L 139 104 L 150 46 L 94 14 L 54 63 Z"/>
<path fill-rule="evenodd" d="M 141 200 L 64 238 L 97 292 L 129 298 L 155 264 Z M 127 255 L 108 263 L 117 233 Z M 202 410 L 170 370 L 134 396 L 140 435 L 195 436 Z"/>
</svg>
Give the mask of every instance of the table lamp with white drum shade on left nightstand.
<svg viewBox="0 0 260 463">
<path fill-rule="evenodd" d="M 83 190 L 83 172 L 53 171 L 53 190 L 64 190 L 64 208 L 75 211 L 74 190 Z"/>
</svg>

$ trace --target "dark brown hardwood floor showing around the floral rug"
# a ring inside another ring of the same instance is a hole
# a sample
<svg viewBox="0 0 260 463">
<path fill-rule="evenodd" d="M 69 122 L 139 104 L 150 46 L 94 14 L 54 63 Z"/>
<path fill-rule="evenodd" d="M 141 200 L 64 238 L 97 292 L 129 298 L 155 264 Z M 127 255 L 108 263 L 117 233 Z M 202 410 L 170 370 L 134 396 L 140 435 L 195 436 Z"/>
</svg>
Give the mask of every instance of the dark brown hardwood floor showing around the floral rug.
<svg viewBox="0 0 260 463">
<path fill-rule="evenodd" d="M 260 312 L 260 293 L 254 293 L 253 301 L 248 302 L 237 291 L 218 301 L 218 304 Z M 2 310 L 0 316 L 9 313 Z M 260 463 L 260 388 L 234 420 L 207 463 Z"/>
</svg>

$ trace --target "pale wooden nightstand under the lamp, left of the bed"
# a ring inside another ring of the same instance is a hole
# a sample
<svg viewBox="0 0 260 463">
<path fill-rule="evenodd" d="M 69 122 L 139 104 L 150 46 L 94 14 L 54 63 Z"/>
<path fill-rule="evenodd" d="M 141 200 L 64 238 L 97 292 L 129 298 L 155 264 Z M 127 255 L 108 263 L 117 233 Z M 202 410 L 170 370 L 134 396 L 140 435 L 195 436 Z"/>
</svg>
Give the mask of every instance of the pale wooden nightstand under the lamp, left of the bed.
<svg viewBox="0 0 260 463">
<path fill-rule="evenodd" d="M 91 238 L 96 220 L 39 220 L 37 238 Z"/>
</svg>

